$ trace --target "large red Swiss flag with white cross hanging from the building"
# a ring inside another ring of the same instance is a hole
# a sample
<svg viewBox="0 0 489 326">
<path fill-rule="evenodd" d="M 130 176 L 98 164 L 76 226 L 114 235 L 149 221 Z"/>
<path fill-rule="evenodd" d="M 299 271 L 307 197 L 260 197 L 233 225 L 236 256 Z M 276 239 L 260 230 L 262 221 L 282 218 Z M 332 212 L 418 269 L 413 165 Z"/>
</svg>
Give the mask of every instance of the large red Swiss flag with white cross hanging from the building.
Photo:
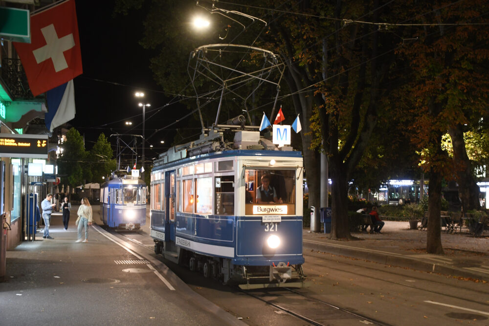
<svg viewBox="0 0 489 326">
<path fill-rule="evenodd" d="M 82 70 L 75 0 L 31 15 L 31 43 L 14 42 L 34 96 L 58 87 Z"/>
</svg>

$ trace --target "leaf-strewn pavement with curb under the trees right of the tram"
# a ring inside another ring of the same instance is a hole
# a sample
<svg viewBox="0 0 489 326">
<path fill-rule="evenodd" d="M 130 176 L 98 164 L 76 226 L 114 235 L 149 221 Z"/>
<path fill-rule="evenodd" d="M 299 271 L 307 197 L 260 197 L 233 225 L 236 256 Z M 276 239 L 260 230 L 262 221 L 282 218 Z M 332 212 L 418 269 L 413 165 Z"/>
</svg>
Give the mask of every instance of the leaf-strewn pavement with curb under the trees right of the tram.
<svg viewBox="0 0 489 326">
<path fill-rule="evenodd" d="M 483 237 L 474 238 L 467 233 L 447 234 L 442 230 L 445 255 L 426 254 L 426 231 L 410 230 L 407 221 L 385 221 L 381 234 L 352 235 L 360 240 L 330 240 L 328 234 L 311 233 L 304 229 L 304 251 L 324 251 L 387 265 L 489 282 L 487 232 Z"/>
</svg>

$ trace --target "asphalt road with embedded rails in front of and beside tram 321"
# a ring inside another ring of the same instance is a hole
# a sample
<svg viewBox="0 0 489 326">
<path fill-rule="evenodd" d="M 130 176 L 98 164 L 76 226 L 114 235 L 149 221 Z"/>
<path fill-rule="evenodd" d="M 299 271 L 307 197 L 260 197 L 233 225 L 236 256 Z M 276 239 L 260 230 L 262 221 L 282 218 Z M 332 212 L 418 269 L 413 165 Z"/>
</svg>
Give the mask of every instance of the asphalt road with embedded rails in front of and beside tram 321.
<svg viewBox="0 0 489 326">
<path fill-rule="evenodd" d="M 241 291 L 154 255 L 148 230 L 117 234 L 248 325 L 489 325 L 487 283 L 308 251 L 309 287 Z"/>
</svg>

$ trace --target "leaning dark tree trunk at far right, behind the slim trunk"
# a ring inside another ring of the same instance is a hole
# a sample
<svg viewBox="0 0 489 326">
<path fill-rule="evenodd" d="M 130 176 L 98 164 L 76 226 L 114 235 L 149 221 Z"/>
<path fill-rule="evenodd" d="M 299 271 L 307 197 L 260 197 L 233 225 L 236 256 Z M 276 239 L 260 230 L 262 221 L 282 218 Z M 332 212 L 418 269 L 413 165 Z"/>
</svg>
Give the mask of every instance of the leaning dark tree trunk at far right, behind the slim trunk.
<svg viewBox="0 0 489 326">
<path fill-rule="evenodd" d="M 462 125 L 449 128 L 448 132 L 453 146 L 453 163 L 458 183 L 459 196 L 464 212 L 480 208 L 479 186 L 475 180 L 474 169 L 465 148 Z"/>
</svg>

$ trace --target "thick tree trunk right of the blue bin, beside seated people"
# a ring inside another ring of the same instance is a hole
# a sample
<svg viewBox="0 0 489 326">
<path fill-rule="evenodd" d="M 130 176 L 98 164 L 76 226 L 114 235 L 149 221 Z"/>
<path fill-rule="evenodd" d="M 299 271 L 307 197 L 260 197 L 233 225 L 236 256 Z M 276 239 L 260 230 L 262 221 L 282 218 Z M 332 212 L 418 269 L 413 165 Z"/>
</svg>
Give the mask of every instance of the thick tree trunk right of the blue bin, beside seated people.
<svg viewBox="0 0 489 326">
<path fill-rule="evenodd" d="M 330 159 L 331 169 L 331 235 L 330 239 L 353 239 L 348 220 L 348 177 L 344 167 L 334 158 Z"/>
</svg>

